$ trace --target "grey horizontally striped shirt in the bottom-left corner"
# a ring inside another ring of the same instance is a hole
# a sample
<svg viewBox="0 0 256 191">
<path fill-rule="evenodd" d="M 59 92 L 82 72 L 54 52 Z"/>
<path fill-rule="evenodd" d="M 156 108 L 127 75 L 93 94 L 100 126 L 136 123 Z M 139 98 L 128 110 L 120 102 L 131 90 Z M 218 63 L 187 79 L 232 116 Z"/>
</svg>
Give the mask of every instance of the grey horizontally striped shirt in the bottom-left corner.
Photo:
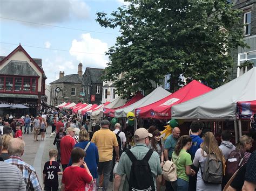
<svg viewBox="0 0 256 191">
<path fill-rule="evenodd" d="M 0 161 L 0 190 L 26 190 L 21 171 L 14 165 Z"/>
</svg>

